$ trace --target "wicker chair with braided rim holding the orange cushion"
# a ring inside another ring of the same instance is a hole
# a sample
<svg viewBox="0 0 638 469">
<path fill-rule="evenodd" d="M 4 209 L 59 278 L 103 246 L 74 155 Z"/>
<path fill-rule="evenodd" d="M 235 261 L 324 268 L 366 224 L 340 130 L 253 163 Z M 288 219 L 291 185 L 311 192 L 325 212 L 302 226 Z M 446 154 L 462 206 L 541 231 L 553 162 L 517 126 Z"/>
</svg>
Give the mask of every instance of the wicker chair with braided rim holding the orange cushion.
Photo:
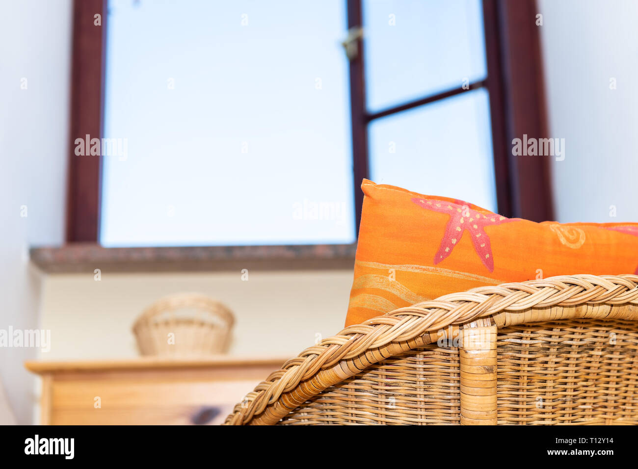
<svg viewBox="0 0 638 469">
<path fill-rule="evenodd" d="M 474 288 L 351 325 L 225 424 L 638 424 L 638 276 Z"/>
</svg>

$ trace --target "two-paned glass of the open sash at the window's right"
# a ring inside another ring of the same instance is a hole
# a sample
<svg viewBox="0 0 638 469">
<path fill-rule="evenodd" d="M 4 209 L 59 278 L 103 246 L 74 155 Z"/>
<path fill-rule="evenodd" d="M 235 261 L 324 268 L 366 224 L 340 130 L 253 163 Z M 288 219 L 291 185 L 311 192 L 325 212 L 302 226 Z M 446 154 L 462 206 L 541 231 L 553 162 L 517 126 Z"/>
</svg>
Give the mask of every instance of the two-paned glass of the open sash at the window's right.
<svg viewBox="0 0 638 469">
<path fill-rule="evenodd" d="M 375 182 L 497 210 L 480 0 L 364 1 L 367 114 Z M 404 103 L 426 104 L 393 112 Z"/>
</svg>

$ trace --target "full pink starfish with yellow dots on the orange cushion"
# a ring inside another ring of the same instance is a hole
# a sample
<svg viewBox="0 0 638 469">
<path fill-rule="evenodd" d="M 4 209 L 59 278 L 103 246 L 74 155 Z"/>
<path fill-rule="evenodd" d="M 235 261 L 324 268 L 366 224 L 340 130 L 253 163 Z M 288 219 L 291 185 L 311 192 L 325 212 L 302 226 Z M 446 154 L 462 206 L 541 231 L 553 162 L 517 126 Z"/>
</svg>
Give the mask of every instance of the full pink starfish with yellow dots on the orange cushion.
<svg viewBox="0 0 638 469">
<path fill-rule="evenodd" d="M 438 264 L 452 253 L 452 249 L 454 249 L 454 246 L 461 240 L 461 237 L 467 230 L 470 232 L 472 244 L 474 244 L 474 249 L 479 255 L 481 262 L 487 267 L 488 271 L 494 271 L 492 247 L 489 243 L 489 236 L 487 236 L 484 228 L 488 225 L 507 223 L 508 221 L 512 221 L 512 219 L 497 214 L 484 214 L 470 209 L 470 204 L 463 202 L 463 200 L 455 200 L 454 203 L 452 203 L 445 202 L 444 200 L 427 200 L 415 197 L 412 199 L 412 202 L 420 205 L 424 209 L 450 215 L 450 220 L 447 222 L 447 227 L 445 227 L 443 239 L 441 239 L 441 246 L 439 246 L 438 251 L 434 255 L 434 264 Z"/>
</svg>

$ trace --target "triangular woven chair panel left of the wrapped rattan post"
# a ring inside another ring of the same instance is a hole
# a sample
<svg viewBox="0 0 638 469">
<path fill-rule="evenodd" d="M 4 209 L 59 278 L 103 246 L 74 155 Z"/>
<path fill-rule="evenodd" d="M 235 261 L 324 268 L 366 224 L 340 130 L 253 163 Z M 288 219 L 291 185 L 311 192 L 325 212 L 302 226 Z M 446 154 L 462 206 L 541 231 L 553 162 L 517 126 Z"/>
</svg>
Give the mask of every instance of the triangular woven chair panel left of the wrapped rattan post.
<svg viewBox="0 0 638 469">
<path fill-rule="evenodd" d="M 459 424 L 459 350 L 429 345 L 331 386 L 283 425 Z"/>
</svg>

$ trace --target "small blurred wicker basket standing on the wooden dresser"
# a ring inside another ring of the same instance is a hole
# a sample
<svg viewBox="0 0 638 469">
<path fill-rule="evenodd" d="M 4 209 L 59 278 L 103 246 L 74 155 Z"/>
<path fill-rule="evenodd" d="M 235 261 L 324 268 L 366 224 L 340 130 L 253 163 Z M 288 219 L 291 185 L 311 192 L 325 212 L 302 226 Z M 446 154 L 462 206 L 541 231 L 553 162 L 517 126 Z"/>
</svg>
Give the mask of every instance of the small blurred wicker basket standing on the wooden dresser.
<svg viewBox="0 0 638 469">
<path fill-rule="evenodd" d="M 175 294 L 159 299 L 133 324 L 142 355 L 211 355 L 226 351 L 235 318 L 205 295 Z"/>
</svg>

